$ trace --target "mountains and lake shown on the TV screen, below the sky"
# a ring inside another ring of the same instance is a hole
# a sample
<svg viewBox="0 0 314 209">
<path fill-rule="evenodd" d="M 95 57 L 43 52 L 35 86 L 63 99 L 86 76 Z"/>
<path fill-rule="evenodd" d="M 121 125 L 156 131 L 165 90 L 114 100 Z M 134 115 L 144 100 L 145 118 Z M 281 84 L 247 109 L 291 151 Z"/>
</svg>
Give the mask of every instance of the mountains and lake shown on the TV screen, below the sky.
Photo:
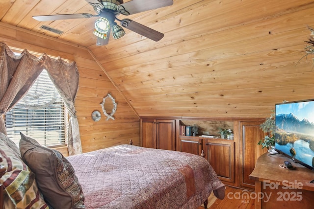
<svg viewBox="0 0 314 209">
<path fill-rule="evenodd" d="M 314 123 L 290 114 L 276 115 L 276 149 L 314 167 Z"/>
</svg>

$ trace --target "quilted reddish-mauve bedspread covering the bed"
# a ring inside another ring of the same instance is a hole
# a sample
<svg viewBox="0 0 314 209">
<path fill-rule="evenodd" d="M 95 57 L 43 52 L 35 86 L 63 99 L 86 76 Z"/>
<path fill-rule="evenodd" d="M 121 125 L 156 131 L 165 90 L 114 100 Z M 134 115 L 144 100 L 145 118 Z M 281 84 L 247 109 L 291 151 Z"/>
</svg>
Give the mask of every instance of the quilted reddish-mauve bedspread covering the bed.
<svg viewBox="0 0 314 209">
<path fill-rule="evenodd" d="M 189 153 L 124 144 L 67 159 L 86 209 L 195 209 L 212 190 L 224 198 L 208 161 Z"/>
</svg>

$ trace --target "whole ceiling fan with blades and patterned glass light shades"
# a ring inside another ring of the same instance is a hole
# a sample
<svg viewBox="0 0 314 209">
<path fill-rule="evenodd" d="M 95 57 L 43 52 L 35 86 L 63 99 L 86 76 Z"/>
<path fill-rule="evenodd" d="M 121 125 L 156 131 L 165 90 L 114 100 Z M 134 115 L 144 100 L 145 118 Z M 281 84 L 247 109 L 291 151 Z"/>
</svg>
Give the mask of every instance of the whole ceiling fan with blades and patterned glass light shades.
<svg viewBox="0 0 314 209">
<path fill-rule="evenodd" d="M 66 20 L 66 19 L 78 19 L 78 18 L 92 18 L 99 17 L 95 21 L 95 29 L 93 34 L 97 36 L 97 46 L 106 45 L 109 42 L 110 32 L 114 39 L 119 39 L 125 35 L 123 28 L 115 21 L 128 28 L 129 30 L 145 36 L 153 41 L 159 41 L 164 36 L 152 28 L 149 28 L 140 23 L 136 23 L 130 19 L 119 20 L 116 16 L 131 15 L 139 12 L 144 12 L 160 7 L 170 6 L 173 4 L 173 0 L 131 0 L 123 3 L 123 0 L 86 0 L 90 5 L 94 7 L 94 10 L 98 13 L 92 15 L 89 13 L 80 14 L 62 14 L 62 15 L 42 15 L 33 16 L 37 21 L 54 21 L 54 20 Z"/>
</svg>

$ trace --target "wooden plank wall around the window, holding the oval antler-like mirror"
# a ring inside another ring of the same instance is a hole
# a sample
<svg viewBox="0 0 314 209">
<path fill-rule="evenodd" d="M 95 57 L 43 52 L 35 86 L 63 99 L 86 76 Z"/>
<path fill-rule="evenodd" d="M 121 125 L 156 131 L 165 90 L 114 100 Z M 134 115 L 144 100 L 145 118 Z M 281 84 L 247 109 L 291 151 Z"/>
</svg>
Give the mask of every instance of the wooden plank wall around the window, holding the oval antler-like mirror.
<svg viewBox="0 0 314 209">
<path fill-rule="evenodd" d="M 57 41 L 5 23 L 0 23 L 0 42 L 28 51 L 47 53 L 75 61 L 79 70 L 79 89 L 76 110 L 83 152 L 93 151 L 117 144 L 127 144 L 132 139 L 139 145 L 139 118 L 106 76 L 102 67 L 90 51 L 81 46 Z M 111 93 L 118 103 L 115 120 L 105 120 L 105 116 L 94 122 L 94 110 L 102 113 L 100 103 Z"/>
</svg>

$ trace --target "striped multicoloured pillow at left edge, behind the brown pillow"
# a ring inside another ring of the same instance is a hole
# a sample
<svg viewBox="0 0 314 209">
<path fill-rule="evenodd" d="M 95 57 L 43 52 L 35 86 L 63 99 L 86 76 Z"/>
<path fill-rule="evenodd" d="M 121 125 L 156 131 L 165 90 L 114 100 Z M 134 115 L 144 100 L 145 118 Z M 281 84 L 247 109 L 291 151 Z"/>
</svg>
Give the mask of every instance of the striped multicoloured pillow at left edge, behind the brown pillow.
<svg viewBox="0 0 314 209">
<path fill-rule="evenodd" d="M 5 188 L 3 190 L 4 208 L 49 209 L 37 187 L 35 174 L 29 170 L 12 146 L 7 145 L 6 142 L 10 139 L 2 139 L 4 139 L 3 136 L 0 140 L 0 155 L 3 160 L 1 164 L 6 167 L 6 173 L 1 177 L 0 182 Z"/>
</svg>

